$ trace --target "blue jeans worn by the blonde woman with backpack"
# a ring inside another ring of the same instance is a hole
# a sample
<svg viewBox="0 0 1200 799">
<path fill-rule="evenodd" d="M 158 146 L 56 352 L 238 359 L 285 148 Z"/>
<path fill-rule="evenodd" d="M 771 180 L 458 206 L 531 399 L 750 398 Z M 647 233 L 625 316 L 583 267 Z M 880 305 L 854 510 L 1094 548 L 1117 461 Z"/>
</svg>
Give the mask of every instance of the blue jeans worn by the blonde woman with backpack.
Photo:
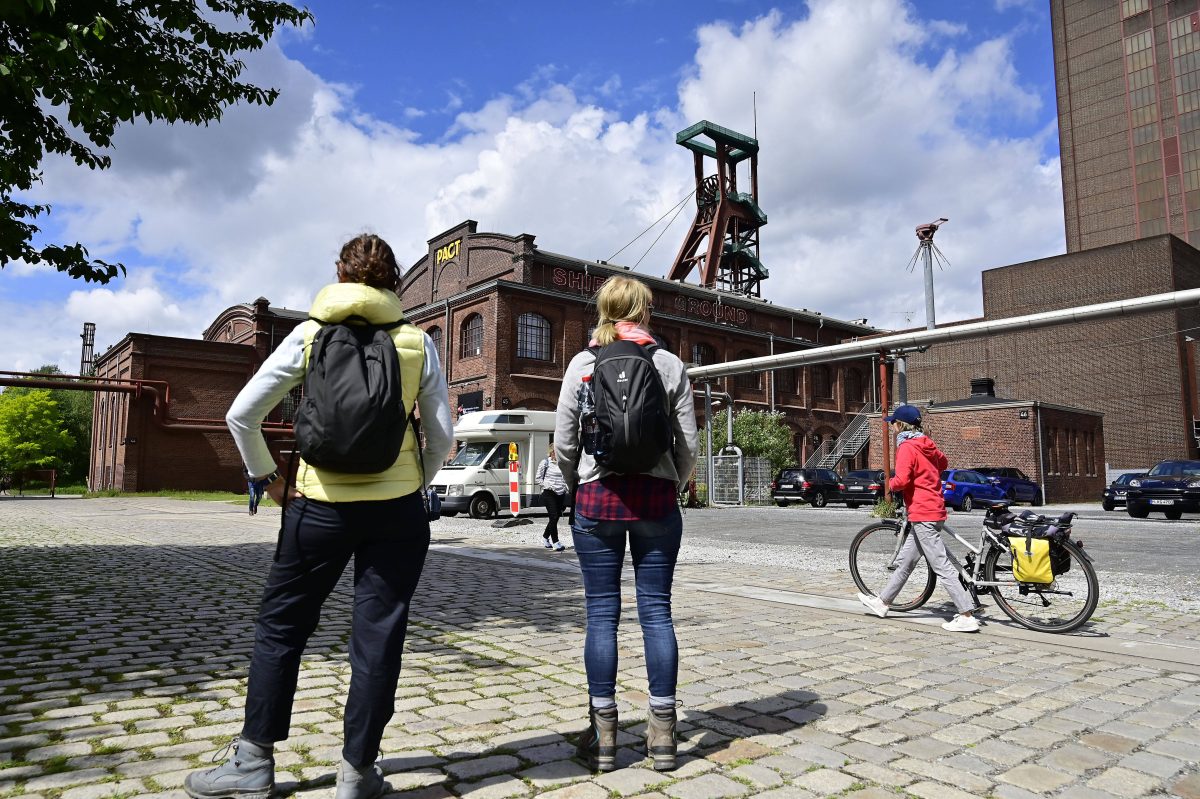
<svg viewBox="0 0 1200 799">
<path fill-rule="evenodd" d="M 683 539 L 683 517 L 678 509 L 660 519 L 644 522 L 606 522 L 575 515 L 571 533 L 583 572 L 588 611 L 583 644 L 588 693 L 595 697 L 617 695 L 617 625 L 626 531 L 634 555 L 637 620 L 642 625 L 650 696 L 674 696 L 679 645 L 671 619 L 671 581 Z"/>
</svg>

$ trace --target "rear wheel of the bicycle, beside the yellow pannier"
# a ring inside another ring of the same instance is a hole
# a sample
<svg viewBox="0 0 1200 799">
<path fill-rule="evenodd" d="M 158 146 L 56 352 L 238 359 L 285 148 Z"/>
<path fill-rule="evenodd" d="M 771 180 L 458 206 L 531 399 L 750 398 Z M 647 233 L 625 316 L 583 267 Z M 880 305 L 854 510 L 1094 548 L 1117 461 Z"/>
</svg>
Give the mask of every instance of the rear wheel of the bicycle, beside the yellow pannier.
<svg viewBox="0 0 1200 799">
<path fill-rule="evenodd" d="M 1092 561 L 1074 543 L 1061 546 L 1070 558 L 1070 569 L 1056 575 L 1049 585 L 1019 583 L 1013 578 L 1013 553 L 992 547 L 984 561 L 984 579 L 998 583 L 991 596 L 1013 621 L 1039 632 L 1070 632 L 1082 626 L 1100 600 L 1100 583 Z"/>
</svg>

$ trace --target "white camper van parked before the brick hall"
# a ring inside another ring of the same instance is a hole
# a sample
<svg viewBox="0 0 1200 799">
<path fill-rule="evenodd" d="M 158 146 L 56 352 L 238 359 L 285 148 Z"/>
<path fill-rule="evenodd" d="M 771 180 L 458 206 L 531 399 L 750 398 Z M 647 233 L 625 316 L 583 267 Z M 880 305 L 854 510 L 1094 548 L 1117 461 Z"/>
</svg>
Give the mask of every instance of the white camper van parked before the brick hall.
<svg viewBox="0 0 1200 799">
<path fill-rule="evenodd" d="M 521 507 L 541 507 L 541 486 L 534 476 L 553 435 L 553 410 L 463 414 L 454 427 L 458 451 L 433 477 L 442 512 L 492 518 L 497 511 L 509 511 L 509 444 L 517 445 Z"/>
</svg>

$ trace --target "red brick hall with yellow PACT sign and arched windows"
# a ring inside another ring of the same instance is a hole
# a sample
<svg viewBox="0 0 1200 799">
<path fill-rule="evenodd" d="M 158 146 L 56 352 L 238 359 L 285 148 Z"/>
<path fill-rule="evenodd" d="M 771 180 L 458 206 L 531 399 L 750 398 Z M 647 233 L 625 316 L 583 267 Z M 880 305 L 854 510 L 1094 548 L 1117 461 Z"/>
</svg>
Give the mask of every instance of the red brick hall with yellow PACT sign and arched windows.
<svg viewBox="0 0 1200 799">
<path fill-rule="evenodd" d="M 631 272 L 540 250 L 529 234 L 480 233 L 466 221 L 428 241 L 404 272 L 408 318 L 438 343 L 451 403 L 553 410 L 566 362 L 596 324 L 594 295 L 611 275 L 654 292 L 652 328 L 684 362 L 716 364 L 835 344 L 877 332 L 863 323 Z M 870 360 L 722 378 L 737 408 L 784 413 L 797 461 L 874 402 Z M 703 423 L 703 408 L 697 403 Z M 866 452 L 848 465 L 866 463 Z"/>
</svg>

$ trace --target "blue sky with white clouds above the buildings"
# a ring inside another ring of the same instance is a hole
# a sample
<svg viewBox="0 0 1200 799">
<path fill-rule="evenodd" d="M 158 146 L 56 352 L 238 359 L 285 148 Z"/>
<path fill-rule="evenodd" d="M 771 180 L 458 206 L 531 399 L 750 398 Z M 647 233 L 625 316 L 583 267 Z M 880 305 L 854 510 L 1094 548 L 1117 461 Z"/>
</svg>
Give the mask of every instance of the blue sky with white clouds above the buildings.
<svg viewBox="0 0 1200 799">
<path fill-rule="evenodd" d="M 707 119 L 757 136 L 763 298 L 884 329 L 982 313 L 980 272 L 1066 250 L 1045 0 L 312 0 L 245 56 L 281 90 L 208 127 L 121 128 L 113 167 L 43 162 L 46 241 L 127 276 L 0 270 L 0 370 L 74 373 L 79 331 L 199 337 L 266 296 L 304 310 L 349 238 L 402 266 L 480 230 L 661 277 Z M 664 218 L 665 217 L 665 218 Z M 659 221 L 655 224 L 655 221 Z M 640 238 L 638 238 L 640 236 Z M 696 281 L 694 274 L 690 282 Z"/>
</svg>

